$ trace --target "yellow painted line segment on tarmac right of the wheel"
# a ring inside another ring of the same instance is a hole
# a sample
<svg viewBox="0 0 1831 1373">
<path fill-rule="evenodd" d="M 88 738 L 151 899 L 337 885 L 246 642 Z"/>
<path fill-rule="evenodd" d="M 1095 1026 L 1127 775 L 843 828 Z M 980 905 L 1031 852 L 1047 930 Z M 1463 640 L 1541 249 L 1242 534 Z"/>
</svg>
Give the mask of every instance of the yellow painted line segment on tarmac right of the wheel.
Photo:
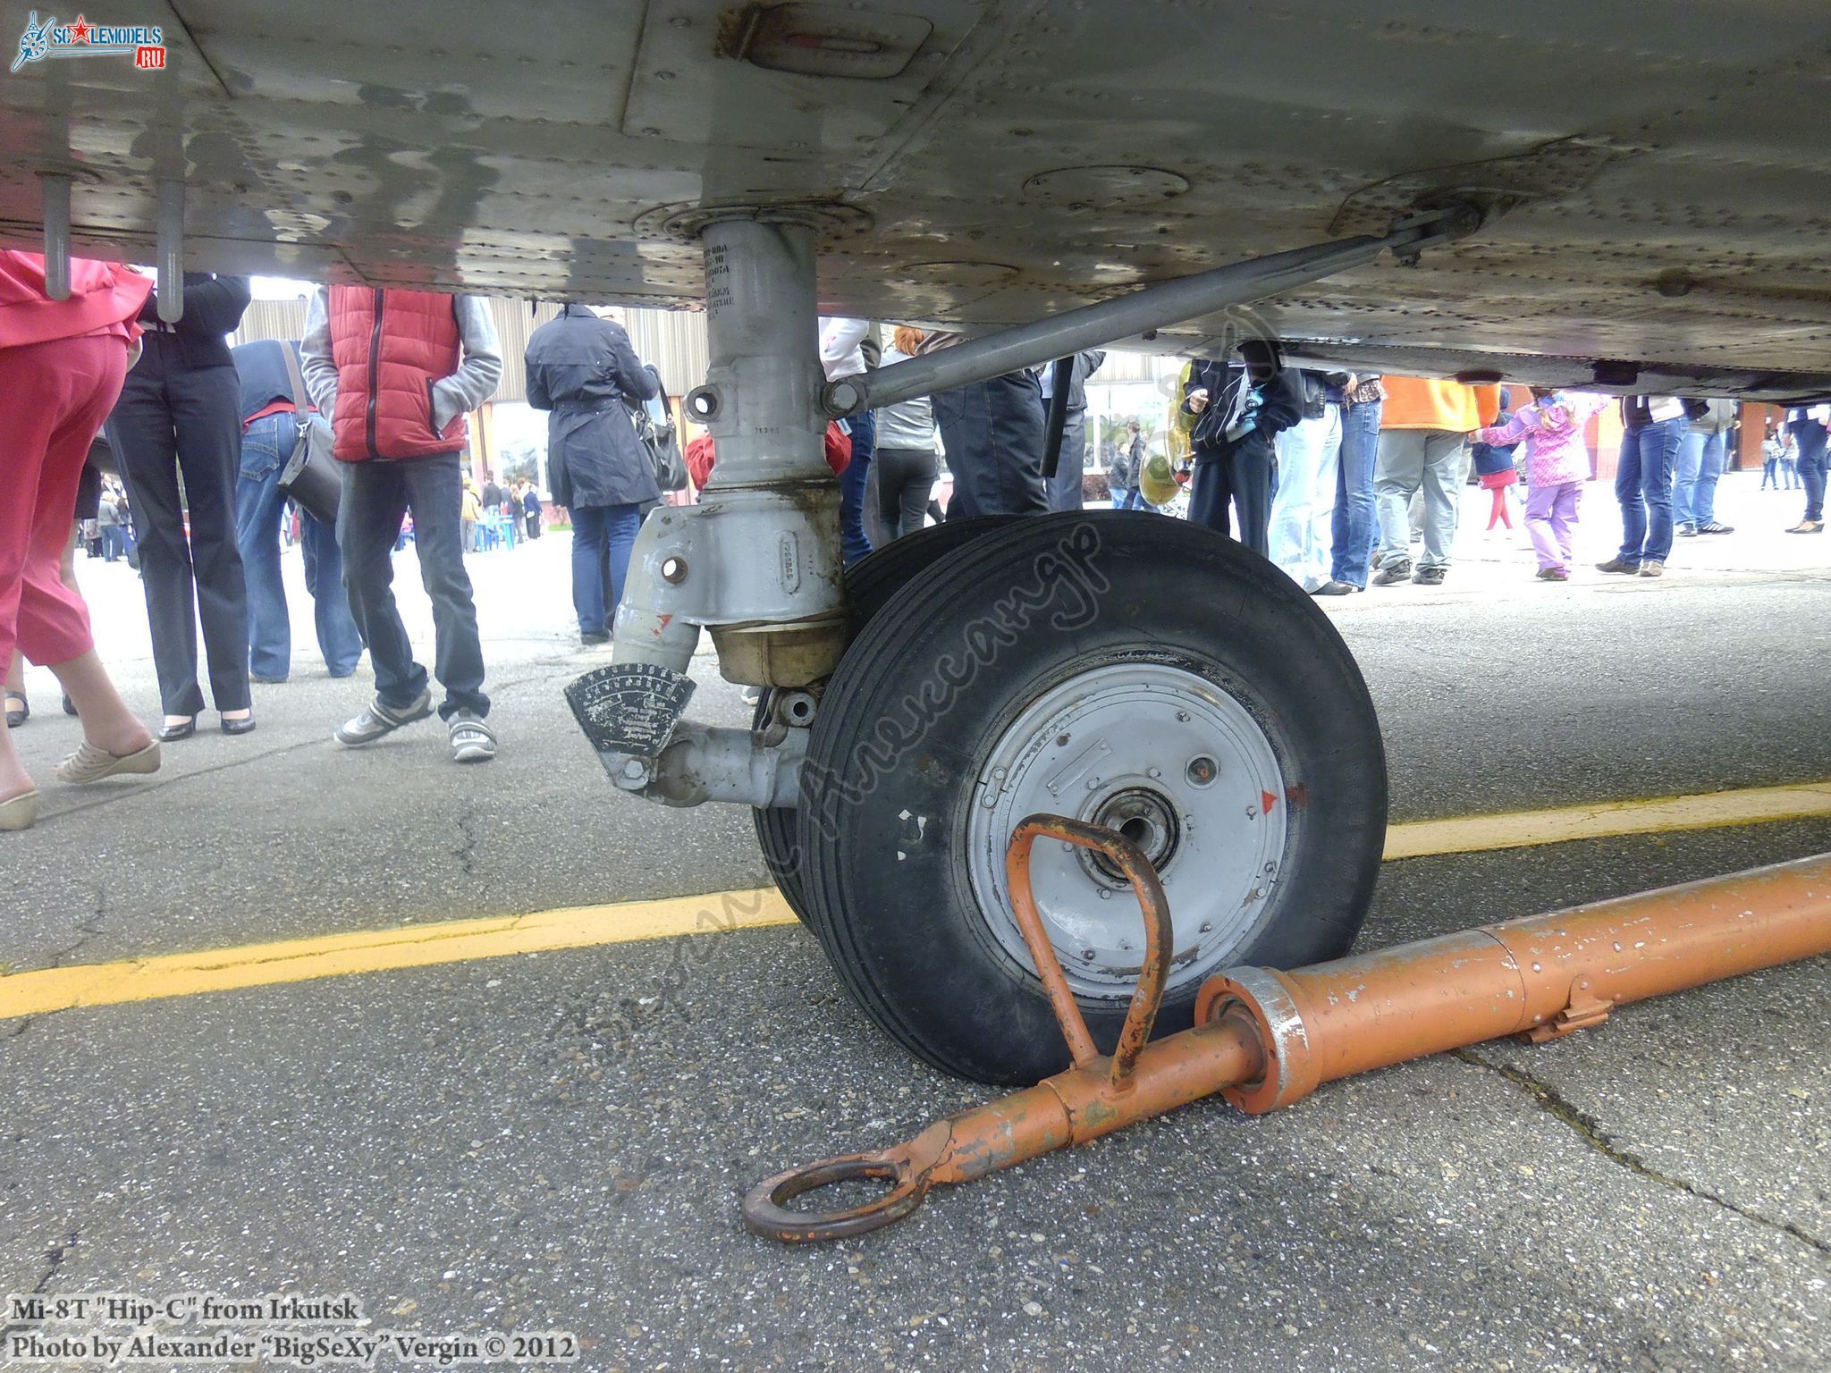
<svg viewBox="0 0 1831 1373">
<path fill-rule="evenodd" d="M 1657 800 L 1597 802 L 1595 805 L 1562 805 L 1553 811 L 1465 815 L 1454 820 L 1412 820 L 1386 829 L 1386 862 L 1423 859 L 1434 853 L 1523 849 L 1536 844 L 1567 844 L 1576 838 L 1805 820 L 1818 815 L 1831 815 L 1831 782 L 1706 791 L 1697 796 L 1663 796 Z"/>
</svg>

